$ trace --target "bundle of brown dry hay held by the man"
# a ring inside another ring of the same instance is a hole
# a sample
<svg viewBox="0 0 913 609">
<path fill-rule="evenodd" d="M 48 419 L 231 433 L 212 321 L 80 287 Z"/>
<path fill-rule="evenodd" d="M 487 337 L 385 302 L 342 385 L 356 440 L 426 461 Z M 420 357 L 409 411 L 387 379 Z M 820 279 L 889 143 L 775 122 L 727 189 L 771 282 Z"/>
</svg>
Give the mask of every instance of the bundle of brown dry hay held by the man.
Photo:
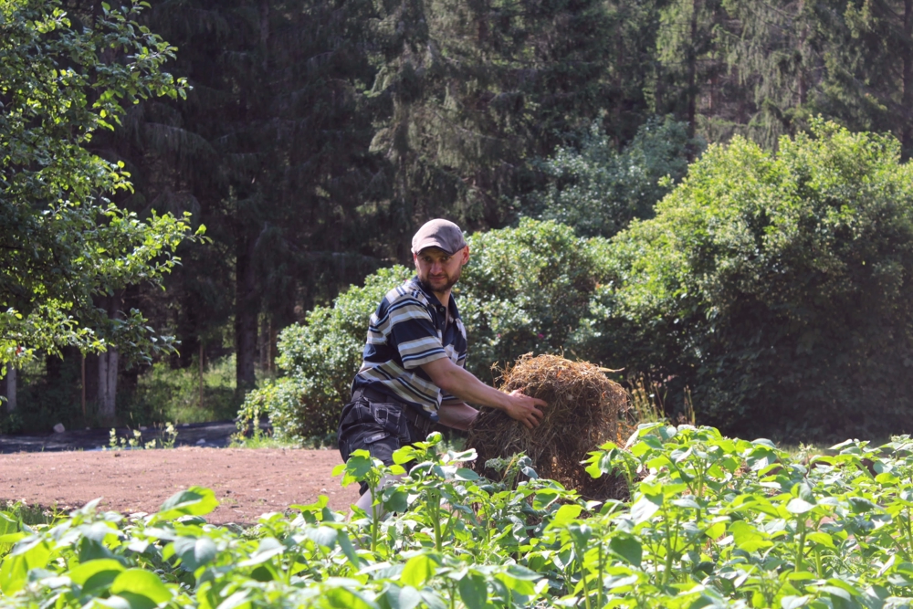
<svg viewBox="0 0 913 609">
<path fill-rule="evenodd" d="M 620 413 L 627 394 L 602 370 L 587 362 L 571 362 L 555 355 L 523 356 L 502 375 L 501 389 L 520 389 L 544 400 L 547 407 L 539 426 L 527 429 L 508 415 L 483 408 L 469 429 L 467 447 L 478 458 L 473 467 L 488 478 L 498 472 L 486 469 L 488 459 L 528 455 L 540 478 L 551 478 L 575 488 L 587 499 L 617 496 L 611 477 L 593 479 L 580 462 L 587 453 L 619 436 Z"/>
</svg>

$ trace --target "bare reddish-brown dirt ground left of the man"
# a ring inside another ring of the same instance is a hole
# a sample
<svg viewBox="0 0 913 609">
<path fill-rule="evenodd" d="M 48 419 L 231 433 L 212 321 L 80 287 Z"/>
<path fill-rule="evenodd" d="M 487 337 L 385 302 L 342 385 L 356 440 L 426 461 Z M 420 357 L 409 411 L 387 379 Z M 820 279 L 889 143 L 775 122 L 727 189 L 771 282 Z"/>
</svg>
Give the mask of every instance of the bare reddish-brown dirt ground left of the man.
<svg viewBox="0 0 913 609">
<path fill-rule="evenodd" d="M 101 506 L 124 514 L 156 511 L 178 490 L 212 488 L 221 505 L 207 520 L 253 523 L 260 514 L 330 498 L 348 509 L 358 487 L 341 488 L 335 450 L 197 448 L 0 455 L 0 500 L 77 508 Z"/>
</svg>

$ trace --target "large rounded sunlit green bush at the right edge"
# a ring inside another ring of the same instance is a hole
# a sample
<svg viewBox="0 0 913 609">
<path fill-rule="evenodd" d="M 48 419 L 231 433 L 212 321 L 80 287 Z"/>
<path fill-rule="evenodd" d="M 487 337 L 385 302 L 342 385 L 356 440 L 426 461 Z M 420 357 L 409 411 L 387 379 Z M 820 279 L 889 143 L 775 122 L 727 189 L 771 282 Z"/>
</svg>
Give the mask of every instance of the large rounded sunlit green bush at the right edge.
<svg viewBox="0 0 913 609">
<path fill-rule="evenodd" d="M 913 165 L 893 138 L 817 121 L 776 155 L 711 147 L 610 252 L 577 340 L 690 386 L 699 420 L 799 438 L 910 426 Z"/>
</svg>

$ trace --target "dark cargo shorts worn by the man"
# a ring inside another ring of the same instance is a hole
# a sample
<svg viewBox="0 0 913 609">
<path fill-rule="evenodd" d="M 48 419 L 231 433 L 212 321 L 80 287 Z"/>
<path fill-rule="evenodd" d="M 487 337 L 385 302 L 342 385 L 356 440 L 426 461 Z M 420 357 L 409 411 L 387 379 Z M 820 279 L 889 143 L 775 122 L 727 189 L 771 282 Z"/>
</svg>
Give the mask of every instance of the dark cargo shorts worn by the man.
<svg viewBox="0 0 913 609">
<path fill-rule="evenodd" d="M 419 429 L 408 420 L 405 408 L 408 406 L 390 398 L 375 402 L 364 395 L 346 404 L 336 436 L 342 461 L 348 461 L 352 452 L 363 449 L 383 461 L 383 465 L 391 466 L 397 449 L 425 440 L 428 430 Z M 360 495 L 367 492 L 366 482 L 359 486 Z"/>
</svg>

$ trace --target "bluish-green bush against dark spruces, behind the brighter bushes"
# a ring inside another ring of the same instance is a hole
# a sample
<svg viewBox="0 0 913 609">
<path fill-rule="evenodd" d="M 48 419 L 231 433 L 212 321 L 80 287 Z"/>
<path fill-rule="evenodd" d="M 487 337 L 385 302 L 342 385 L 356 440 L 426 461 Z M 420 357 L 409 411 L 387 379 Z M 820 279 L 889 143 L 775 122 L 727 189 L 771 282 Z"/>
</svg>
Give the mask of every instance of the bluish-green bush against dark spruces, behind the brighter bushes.
<svg viewBox="0 0 913 609">
<path fill-rule="evenodd" d="M 657 117 L 618 152 L 594 122 L 578 145 L 559 148 L 540 164 L 549 184 L 527 213 L 573 226 L 584 236 L 613 236 L 635 218 L 652 217 L 656 202 L 687 173 L 689 150 L 702 147 L 688 140 L 684 122 Z"/>
</svg>

